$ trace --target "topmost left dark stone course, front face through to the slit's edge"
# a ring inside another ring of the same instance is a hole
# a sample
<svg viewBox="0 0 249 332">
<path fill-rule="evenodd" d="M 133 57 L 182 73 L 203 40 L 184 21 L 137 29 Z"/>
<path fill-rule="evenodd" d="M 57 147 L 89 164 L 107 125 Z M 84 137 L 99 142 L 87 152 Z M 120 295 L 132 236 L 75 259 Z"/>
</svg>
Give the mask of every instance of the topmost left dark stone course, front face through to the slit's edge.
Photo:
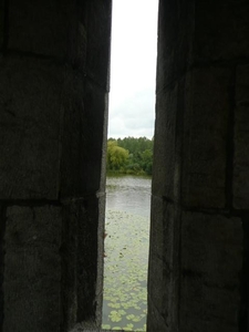
<svg viewBox="0 0 249 332">
<path fill-rule="evenodd" d="M 66 60 L 108 90 L 112 1 L 11 1 L 8 49 Z"/>
</svg>

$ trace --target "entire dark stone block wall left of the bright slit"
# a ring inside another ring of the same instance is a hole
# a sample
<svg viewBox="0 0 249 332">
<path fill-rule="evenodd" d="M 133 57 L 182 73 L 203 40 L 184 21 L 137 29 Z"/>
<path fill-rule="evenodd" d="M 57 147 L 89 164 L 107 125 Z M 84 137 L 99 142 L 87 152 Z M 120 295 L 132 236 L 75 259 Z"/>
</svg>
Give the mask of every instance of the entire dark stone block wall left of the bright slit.
<svg viewBox="0 0 249 332">
<path fill-rule="evenodd" d="M 111 1 L 0 1 L 0 331 L 101 323 Z"/>
</svg>

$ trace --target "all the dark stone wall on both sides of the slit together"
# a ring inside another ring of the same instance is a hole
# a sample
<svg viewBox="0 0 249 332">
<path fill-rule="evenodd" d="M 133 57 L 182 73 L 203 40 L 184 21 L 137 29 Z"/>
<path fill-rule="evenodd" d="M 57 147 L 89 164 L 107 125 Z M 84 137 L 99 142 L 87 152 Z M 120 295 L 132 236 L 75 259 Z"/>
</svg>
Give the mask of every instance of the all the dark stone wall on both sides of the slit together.
<svg viewBox="0 0 249 332">
<path fill-rule="evenodd" d="M 0 0 L 2 332 L 100 331 L 111 9 Z M 248 330 L 248 18 L 159 1 L 148 332 Z"/>
</svg>

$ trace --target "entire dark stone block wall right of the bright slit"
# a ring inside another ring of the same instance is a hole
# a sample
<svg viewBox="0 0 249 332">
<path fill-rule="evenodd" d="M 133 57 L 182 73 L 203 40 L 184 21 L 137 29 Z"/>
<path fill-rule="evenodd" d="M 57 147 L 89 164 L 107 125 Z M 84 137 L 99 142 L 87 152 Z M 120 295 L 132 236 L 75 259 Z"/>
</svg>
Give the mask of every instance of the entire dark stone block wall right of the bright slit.
<svg viewBox="0 0 249 332">
<path fill-rule="evenodd" d="M 159 1 L 148 331 L 248 331 L 249 3 Z"/>
</svg>

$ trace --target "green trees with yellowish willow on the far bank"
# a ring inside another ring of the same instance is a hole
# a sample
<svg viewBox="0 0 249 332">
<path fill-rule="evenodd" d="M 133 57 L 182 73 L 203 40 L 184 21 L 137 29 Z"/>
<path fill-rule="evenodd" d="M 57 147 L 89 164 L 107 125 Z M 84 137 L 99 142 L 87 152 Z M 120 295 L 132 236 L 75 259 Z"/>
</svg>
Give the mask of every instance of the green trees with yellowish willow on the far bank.
<svg viewBox="0 0 249 332">
<path fill-rule="evenodd" d="M 152 175 L 154 139 L 108 138 L 107 173 Z"/>
</svg>

